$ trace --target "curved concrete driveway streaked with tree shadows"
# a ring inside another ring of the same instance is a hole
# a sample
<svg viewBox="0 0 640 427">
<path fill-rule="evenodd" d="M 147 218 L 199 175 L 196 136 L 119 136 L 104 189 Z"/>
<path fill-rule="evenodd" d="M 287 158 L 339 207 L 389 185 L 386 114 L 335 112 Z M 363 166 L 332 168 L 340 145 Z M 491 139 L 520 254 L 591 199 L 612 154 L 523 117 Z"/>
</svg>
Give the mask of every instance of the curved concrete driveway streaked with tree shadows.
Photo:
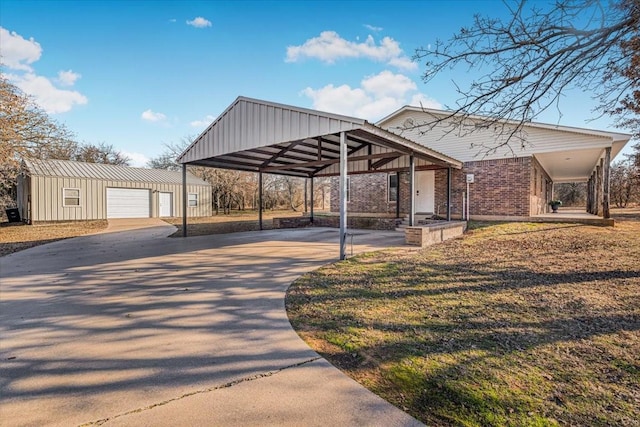
<svg viewBox="0 0 640 427">
<path fill-rule="evenodd" d="M 0 258 L 0 425 L 419 425 L 289 325 L 285 290 L 336 259 L 336 230 L 120 224 Z"/>
</svg>

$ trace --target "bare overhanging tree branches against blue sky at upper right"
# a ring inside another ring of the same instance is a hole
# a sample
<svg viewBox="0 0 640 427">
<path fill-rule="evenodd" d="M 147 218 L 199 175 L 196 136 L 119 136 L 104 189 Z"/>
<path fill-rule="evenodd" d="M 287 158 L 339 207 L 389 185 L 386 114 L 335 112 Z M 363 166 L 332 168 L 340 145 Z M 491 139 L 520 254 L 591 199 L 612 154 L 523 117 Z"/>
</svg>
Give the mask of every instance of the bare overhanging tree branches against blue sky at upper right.
<svg viewBox="0 0 640 427">
<path fill-rule="evenodd" d="M 523 126 L 550 107 L 561 114 L 561 97 L 572 88 L 593 93 L 600 115 L 637 117 L 639 110 L 629 107 L 640 97 L 638 0 L 558 0 L 547 10 L 525 0 L 505 4 L 509 19 L 476 16 L 449 41 L 416 50 L 415 59 L 426 62 L 426 82 L 459 67 L 480 74 L 469 87 L 456 85 L 459 99 L 447 107 L 450 115 L 412 126 L 491 128 L 503 138 L 483 147 L 486 152 L 524 145 Z M 472 120 L 478 115 L 489 119 Z M 621 123 L 640 132 L 637 119 Z"/>
</svg>

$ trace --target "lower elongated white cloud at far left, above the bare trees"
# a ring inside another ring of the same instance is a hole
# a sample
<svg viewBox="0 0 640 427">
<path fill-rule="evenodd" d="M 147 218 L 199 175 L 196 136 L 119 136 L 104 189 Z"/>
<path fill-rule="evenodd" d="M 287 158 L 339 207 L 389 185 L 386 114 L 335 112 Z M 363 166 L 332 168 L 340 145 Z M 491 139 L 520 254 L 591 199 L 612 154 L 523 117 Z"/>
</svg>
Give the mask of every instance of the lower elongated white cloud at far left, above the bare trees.
<svg viewBox="0 0 640 427">
<path fill-rule="evenodd" d="M 75 90 L 58 89 L 46 77 L 33 73 L 21 76 L 8 74 L 7 78 L 24 93 L 33 96 L 36 103 L 49 114 L 66 113 L 74 105 L 84 105 L 87 97 Z"/>
</svg>

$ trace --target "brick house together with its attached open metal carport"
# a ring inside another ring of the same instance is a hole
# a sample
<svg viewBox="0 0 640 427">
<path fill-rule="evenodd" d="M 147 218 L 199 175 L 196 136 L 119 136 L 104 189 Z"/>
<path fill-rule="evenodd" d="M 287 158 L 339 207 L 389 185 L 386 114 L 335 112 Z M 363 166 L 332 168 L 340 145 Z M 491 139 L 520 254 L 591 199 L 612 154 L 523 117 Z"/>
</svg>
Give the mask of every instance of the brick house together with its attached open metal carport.
<svg viewBox="0 0 640 427">
<path fill-rule="evenodd" d="M 464 127 L 462 133 L 451 132 L 446 123 L 427 132 L 416 126 L 438 114 L 447 113 L 404 107 L 371 124 L 357 117 L 240 96 L 178 162 L 183 171 L 195 165 L 256 172 L 260 200 L 263 173 L 308 179 L 311 199 L 313 178 L 339 177 L 331 207 L 340 212 L 344 259 L 352 218 L 348 213 L 397 218 L 408 212 L 412 225 L 416 212 L 461 217 L 466 212 L 463 200 L 468 199 L 472 218 L 528 217 L 547 208 L 554 182 L 577 180 L 590 184 L 588 210 L 605 208 L 610 159 L 630 139 L 612 132 L 530 124 L 522 148 L 514 153 L 498 149 L 477 158 L 479 150 L 471 143 L 491 145 L 500 133 L 487 128 L 462 136 Z M 485 123 L 486 119 L 473 118 L 468 125 Z M 262 226 L 262 203 L 258 205 Z M 391 222 L 395 224 L 395 218 Z M 313 205 L 309 216 L 298 220 L 298 225 L 309 223 L 314 223 Z M 186 236 L 186 216 L 183 224 Z"/>
</svg>

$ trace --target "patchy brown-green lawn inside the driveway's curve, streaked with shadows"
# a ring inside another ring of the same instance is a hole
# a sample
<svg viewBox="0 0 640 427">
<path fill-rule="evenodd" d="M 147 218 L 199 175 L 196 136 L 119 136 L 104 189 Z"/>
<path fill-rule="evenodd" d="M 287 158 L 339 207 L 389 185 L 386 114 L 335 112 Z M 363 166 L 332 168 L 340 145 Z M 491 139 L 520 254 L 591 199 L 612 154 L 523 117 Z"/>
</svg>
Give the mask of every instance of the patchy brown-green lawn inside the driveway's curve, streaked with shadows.
<svg viewBox="0 0 640 427">
<path fill-rule="evenodd" d="M 312 348 L 427 425 L 638 426 L 640 221 L 625 213 L 365 254 L 296 281 L 287 311 Z"/>
</svg>

